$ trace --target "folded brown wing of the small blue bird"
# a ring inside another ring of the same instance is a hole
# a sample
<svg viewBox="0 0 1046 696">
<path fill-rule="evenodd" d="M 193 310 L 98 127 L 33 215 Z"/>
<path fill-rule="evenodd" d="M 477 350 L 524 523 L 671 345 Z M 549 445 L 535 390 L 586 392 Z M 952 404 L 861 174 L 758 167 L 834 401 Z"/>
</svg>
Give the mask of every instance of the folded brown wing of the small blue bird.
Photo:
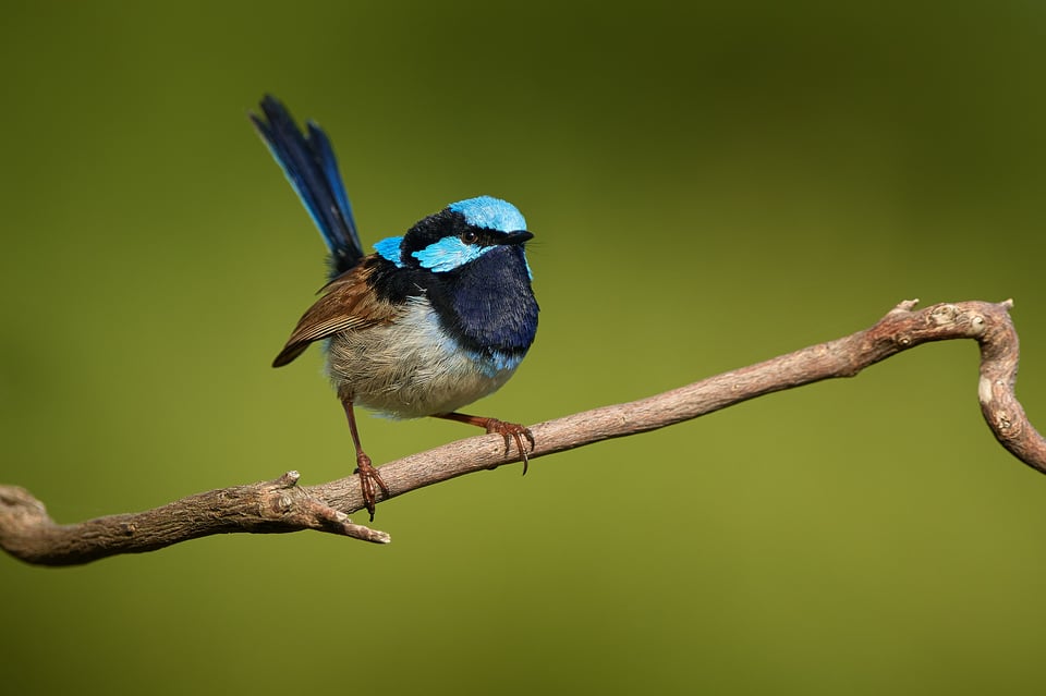
<svg viewBox="0 0 1046 696">
<path fill-rule="evenodd" d="M 363 262 L 327 283 L 320 291 L 324 295 L 297 321 L 272 367 L 287 365 L 313 341 L 394 319 L 399 310 L 379 300 L 367 283 L 372 272 L 373 267 Z"/>
</svg>

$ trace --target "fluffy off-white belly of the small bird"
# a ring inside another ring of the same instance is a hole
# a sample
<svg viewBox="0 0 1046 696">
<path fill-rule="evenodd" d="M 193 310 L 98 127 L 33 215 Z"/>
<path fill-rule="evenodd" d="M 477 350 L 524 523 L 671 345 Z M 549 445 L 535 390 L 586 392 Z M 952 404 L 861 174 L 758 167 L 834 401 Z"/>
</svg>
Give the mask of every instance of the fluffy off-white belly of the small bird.
<svg viewBox="0 0 1046 696">
<path fill-rule="evenodd" d="M 518 364 L 470 355 L 440 330 L 423 297 L 394 325 L 340 333 L 327 346 L 339 395 L 398 418 L 457 411 L 497 391 Z"/>
</svg>

